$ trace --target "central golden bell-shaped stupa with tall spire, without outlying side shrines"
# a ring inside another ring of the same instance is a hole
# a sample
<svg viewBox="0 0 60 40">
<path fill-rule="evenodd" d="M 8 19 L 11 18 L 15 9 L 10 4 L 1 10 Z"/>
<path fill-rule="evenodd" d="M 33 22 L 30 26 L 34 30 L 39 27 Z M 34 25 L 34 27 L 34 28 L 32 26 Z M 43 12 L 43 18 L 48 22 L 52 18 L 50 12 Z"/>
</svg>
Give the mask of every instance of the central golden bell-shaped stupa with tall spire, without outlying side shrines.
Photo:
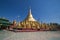
<svg viewBox="0 0 60 40">
<path fill-rule="evenodd" d="M 40 29 L 40 26 L 40 23 L 32 16 L 31 9 L 29 9 L 27 17 L 20 22 L 19 27 L 22 27 L 22 29 Z"/>
</svg>

